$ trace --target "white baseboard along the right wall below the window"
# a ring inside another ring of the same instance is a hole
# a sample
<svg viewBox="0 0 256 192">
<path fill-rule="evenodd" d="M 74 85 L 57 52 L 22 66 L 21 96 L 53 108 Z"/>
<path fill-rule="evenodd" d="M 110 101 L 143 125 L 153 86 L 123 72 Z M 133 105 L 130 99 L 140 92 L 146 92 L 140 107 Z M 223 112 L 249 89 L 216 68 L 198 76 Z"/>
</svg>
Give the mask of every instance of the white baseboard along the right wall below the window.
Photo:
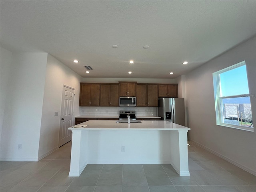
<svg viewBox="0 0 256 192">
<path fill-rule="evenodd" d="M 218 157 L 220 157 L 220 158 L 222 158 L 222 159 L 224 159 L 224 160 L 234 164 L 235 166 L 238 166 L 239 168 L 241 168 L 241 169 L 243 169 L 243 170 L 245 170 L 245 171 L 247 171 L 247 172 L 249 172 L 249 173 L 251 173 L 251 174 L 256 176 L 256 171 L 254 171 L 254 170 L 252 170 L 252 169 L 250 169 L 250 168 L 248 168 L 248 167 L 246 167 L 246 166 L 244 166 L 244 165 L 242 165 L 242 164 L 240 164 L 240 163 L 238 163 L 238 162 L 228 158 L 227 156 L 224 156 L 224 155 L 222 155 L 222 154 L 220 154 L 220 153 L 218 153 L 218 152 L 216 152 L 216 151 L 214 151 L 214 150 L 212 150 L 212 149 L 210 149 L 210 148 L 208 148 L 208 147 L 206 147 L 206 146 L 204 146 L 204 145 L 202 145 L 202 144 L 200 144 L 200 143 L 198 143 L 196 141 L 193 141 L 191 139 L 189 141 L 192 142 L 192 143 L 197 144 L 198 146 L 200 146 L 203 149 L 211 152 L 212 154 L 214 154 L 214 155 L 216 155 L 216 156 L 218 156 Z"/>
</svg>

